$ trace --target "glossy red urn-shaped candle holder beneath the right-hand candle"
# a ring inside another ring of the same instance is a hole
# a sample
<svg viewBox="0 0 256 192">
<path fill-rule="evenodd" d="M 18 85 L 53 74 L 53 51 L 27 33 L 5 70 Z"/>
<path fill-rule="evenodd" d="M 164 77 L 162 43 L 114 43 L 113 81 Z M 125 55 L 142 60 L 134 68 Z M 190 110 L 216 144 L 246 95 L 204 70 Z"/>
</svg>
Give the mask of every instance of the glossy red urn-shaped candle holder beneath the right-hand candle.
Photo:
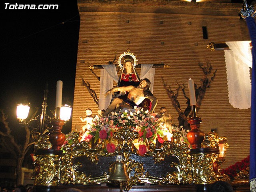
<svg viewBox="0 0 256 192">
<path fill-rule="evenodd" d="M 191 130 L 188 132 L 187 138 L 193 149 L 201 148 L 201 143 L 204 139 L 204 133 L 199 130 L 201 122 L 202 118 L 200 117 L 191 117 L 188 119 Z"/>
</svg>

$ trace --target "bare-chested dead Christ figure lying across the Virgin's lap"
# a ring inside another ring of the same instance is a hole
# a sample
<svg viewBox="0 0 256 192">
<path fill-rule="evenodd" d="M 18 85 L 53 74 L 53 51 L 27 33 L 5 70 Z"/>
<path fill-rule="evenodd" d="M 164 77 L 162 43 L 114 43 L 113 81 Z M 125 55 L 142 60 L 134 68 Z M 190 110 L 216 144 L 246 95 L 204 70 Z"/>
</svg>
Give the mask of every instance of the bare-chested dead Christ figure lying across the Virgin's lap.
<svg viewBox="0 0 256 192">
<path fill-rule="evenodd" d="M 148 98 L 152 102 L 152 107 L 150 109 L 150 113 L 154 111 L 157 104 L 157 98 L 153 96 L 150 92 L 150 80 L 147 78 L 142 79 L 138 87 L 134 86 L 126 86 L 126 87 L 114 87 L 108 90 L 105 94 L 112 94 L 117 91 L 127 91 L 127 99 L 122 100 L 120 98 L 114 98 L 113 102 L 108 106 L 105 112 L 98 110 L 98 114 L 100 116 L 107 116 L 110 112 L 114 111 L 116 108 L 134 108 L 134 106 L 138 106 L 145 98 Z"/>
</svg>

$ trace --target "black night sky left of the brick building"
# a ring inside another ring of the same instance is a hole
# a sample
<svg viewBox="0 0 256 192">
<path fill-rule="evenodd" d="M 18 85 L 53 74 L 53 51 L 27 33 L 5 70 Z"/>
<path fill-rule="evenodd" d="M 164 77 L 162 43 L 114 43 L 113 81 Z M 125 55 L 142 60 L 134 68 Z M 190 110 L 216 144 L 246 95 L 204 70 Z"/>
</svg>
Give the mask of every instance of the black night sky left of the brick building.
<svg viewBox="0 0 256 192">
<path fill-rule="evenodd" d="M 11 10 L 4 3 L 58 4 L 58 10 Z M 27 100 L 31 114 L 35 107 L 42 112 L 47 82 L 47 114 L 55 108 L 58 80 L 63 81 L 62 101 L 73 104 L 80 26 L 76 0 L 2 1 L 1 26 L 0 108 L 11 124 L 17 103 Z"/>
</svg>

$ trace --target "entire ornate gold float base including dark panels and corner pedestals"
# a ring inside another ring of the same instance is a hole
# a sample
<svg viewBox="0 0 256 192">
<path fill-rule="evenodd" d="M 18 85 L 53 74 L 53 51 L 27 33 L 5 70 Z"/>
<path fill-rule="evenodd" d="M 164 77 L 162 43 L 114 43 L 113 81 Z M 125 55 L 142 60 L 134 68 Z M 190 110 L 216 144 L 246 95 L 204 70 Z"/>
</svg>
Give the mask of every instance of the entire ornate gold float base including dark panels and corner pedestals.
<svg viewBox="0 0 256 192">
<path fill-rule="evenodd" d="M 130 181 L 122 182 L 123 190 L 131 190 L 144 183 L 179 186 L 194 183 L 198 184 L 196 186 L 206 186 L 216 181 L 213 163 L 218 157 L 218 149 L 190 150 L 188 144 L 180 140 L 181 136 L 180 132 L 175 132 L 173 141 L 165 141 L 160 148 L 146 142 L 147 151 L 141 155 L 135 143 L 139 134 L 128 127 L 113 133 L 111 143 L 115 144 L 115 150 L 112 153 L 106 150 L 108 140 L 92 146 L 90 142 L 80 142 L 80 135 L 74 132 L 72 139 L 62 147 L 63 154 L 60 150 L 55 150 L 58 151 L 55 154 L 50 150 L 37 152 L 35 185 L 80 184 L 96 187 L 98 184 L 116 184 L 108 178 L 118 154 L 123 156 L 130 178 Z"/>
</svg>

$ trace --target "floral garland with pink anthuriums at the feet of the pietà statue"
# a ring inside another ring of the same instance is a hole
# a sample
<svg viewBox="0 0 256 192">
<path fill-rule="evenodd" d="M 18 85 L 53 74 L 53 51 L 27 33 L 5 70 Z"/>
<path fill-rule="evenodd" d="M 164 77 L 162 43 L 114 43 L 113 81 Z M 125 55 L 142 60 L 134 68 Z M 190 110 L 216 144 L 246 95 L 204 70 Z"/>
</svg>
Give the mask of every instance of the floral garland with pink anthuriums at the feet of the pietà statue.
<svg viewBox="0 0 256 192">
<path fill-rule="evenodd" d="M 148 110 L 144 111 L 143 108 L 134 109 L 121 109 L 119 112 L 111 112 L 108 116 L 104 118 L 99 118 L 96 116 L 93 120 L 93 125 L 90 130 L 87 130 L 82 136 L 82 140 L 89 142 L 94 138 L 94 142 L 98 138 L 102 140 L 108 140 L 112 137 L 114 131 L 128 126 L 132 128 L 133 131 L 139 133 L 139 142 L 158 142 L 163 143 L 165 140 L 171 140 L 172 132 L 181 132 L 182 137 L 181 142 L 187 142 L 186 140 L 186 130 L 180 130 L 176 126 L 172 126 L 172 130 L 164 128 L 164 122 L 158 121 L 154 116 L 148 114 Z M 106 150 L 110 153 L 115 151 L 115 145 L 108 142 L 106 145 Z M 146 153 L 146 145 L 141 144 L 139 146 L 139 154 L 144 155 Z"/>
</svg>

